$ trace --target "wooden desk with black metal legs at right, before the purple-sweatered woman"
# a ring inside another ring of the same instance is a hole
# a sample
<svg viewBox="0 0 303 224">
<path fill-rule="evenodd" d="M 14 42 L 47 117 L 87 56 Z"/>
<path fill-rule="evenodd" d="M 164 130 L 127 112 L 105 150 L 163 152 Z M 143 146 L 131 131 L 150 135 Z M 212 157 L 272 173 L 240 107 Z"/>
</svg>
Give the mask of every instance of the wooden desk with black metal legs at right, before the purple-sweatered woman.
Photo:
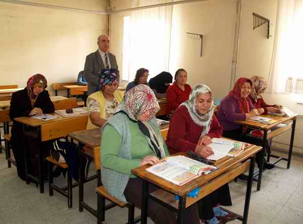
<svg viewBox="0 0 303 224">
<path fill-rule="evenodd" d="M 289 169 L 297 115 L 293 115 L 290 117 L 281 117 L 281 116 L 274 116 L 274 115 L 260 115 L 260 116 L 274 119 L 274 120 L 276 120 L 276 122 L 273 124 L 264 124 L 264 123 L 258 123 L 258 122 L 254 122 L 254 121 L 244 120 L 244 121 L 235 121 L 235 123 L 240 124 L 240 125 L 245 125 L 252 129 L 260 129 L 260 130 L 264 131 L 263 140 L 262 140 L 263 157 L 264 157 L 264 153 L 265 153 L 265 150 L 267 147 L 267 140 L 280 135 L 281 133 L 283 133 L 286 130 L 291 129 L 288 158 L 286 159 L 286 158 L 278 157 L 278 156 L 271 155 L 271 154 L 267 155 L 268 162 L 270 161 L 270 157 L 278 158 L 278 160 L 276 162 L 274 162 L 274 164 L 276 164 L 277 162 L 279 162 L 281 160 L 287 161 L 287 169 Z M 269 132 L 269 130 L 271 130 L 271 131 Z M 261 189 L 262 173 L 263 173 L 263 160 L 262 160 L 261 166 L 259 167 L 259 171 L 257 171 L 254 174 L 254 177 L 258 175 L 258 179 L 254 178 L 254 181 L 258 182 L 258 185 L 257 185 L 258 191 L 260 191 L 260 189 Z"/>
</svg>

